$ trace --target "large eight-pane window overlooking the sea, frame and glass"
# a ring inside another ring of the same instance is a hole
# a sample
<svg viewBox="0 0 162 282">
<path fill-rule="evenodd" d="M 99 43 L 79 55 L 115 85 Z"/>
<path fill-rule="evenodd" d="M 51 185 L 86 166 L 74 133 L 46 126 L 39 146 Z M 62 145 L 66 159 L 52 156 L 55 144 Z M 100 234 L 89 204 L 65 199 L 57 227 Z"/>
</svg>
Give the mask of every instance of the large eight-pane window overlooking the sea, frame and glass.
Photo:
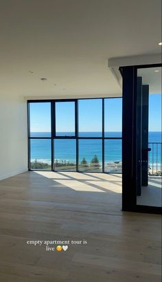
<svg viewBox="0 0 162 282">
<path fill-rule="evenodd" d="M 28 101 L 29 169 L 122 172 L 122 98 Z"/>
</svg>

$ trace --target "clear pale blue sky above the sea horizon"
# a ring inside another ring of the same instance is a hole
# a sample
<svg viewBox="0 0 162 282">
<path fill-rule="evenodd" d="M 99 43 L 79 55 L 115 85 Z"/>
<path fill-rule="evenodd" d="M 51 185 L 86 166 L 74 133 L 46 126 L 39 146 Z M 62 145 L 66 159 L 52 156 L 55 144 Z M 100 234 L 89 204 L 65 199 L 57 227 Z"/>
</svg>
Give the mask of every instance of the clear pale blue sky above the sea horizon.
<svg viewBox="0 0 162 282">
<path fill-rule="evenodd" d="M 73 132 L 74 103 L 56 103 L 56 131 Z M 102 100 L 79 100 L 79 130 L 102 130 Z M 51 109 L 49 102 L 30 104 L 31 132 L 49 132 L 51 130 Z M 105 99 L 105 131 L 122 131 L 122 99 Z M 149 131 L 161 131 L 161 94 L 149 96 Z"/>
</svg>

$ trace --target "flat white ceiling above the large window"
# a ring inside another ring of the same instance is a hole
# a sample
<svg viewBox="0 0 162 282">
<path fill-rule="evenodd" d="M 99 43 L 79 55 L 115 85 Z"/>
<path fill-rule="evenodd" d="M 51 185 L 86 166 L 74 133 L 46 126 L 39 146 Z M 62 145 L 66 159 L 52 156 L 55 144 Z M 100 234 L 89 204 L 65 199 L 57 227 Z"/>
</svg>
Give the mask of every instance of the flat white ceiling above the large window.
<svg viewBox="0 0 162 282">
<path fill-rule="evenodd" d="M 161 0 L 1 0 L 0 34 L 0 95 L 119 96 L 108 58 L 161 52 Z"/>
</svg>

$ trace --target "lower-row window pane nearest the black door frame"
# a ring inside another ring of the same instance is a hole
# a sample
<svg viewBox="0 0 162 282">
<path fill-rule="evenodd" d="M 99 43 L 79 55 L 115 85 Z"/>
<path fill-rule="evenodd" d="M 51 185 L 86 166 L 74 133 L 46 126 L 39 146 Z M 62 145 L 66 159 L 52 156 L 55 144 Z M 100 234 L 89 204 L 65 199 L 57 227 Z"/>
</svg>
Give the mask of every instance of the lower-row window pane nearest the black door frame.
<svg viewBox="0 0 162 282">
<path fill-rule="evenodd" d="M 122 173 L 122 140 L 104 140 L 104 172 Z"/>
</svg>

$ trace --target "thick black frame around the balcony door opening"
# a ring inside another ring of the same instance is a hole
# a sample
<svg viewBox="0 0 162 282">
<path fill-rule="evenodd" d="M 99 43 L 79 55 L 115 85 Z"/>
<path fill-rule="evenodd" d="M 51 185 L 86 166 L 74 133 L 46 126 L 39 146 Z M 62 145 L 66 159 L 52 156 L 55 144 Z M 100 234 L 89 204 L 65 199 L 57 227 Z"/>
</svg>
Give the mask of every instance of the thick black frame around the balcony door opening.
<svg viewBox="0 0 162 282">
<path fill-rule="evenodd" d="M 122 210 L 161 214 L 161 207 L 137 205 L 137 69 L 162 64 L 119 67 L 123 78 Z"/>
</svg>

